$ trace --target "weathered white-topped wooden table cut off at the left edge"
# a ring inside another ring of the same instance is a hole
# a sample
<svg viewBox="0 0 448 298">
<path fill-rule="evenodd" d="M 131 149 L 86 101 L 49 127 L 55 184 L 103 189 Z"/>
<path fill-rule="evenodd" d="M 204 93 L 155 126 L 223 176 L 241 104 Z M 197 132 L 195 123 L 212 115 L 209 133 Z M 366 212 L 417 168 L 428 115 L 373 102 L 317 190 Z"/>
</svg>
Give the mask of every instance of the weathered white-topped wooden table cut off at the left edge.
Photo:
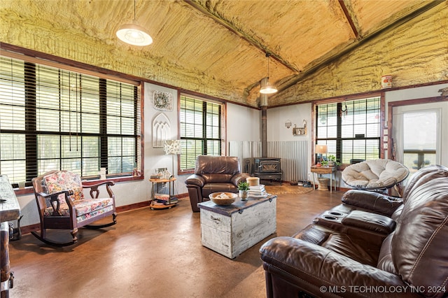
<svg viewBox="0 0 448 298">
<path fill-rule="evenodd" d="M 10 220 L 18 220 L 20 217 L 20 206 L 15 197 L 13 187 L 8 177 L 0 175 L 0 276 L 1 276 L 1 298 L 9 297 L 9 289 L 13 288 L 13 274 L 9 263 L 9 224 Z"/>
</svg>

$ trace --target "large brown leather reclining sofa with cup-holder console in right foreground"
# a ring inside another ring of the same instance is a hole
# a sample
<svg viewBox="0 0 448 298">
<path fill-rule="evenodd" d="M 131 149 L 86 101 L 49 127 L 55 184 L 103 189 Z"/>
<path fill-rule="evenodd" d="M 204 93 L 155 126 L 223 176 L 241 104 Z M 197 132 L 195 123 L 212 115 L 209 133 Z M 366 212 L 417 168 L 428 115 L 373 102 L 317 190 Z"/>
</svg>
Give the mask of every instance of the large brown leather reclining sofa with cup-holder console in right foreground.
<svg viewBox="0 0 448 298">
<path fill-rule="evenodd" d="M 402 201 L 381 196 L 350 191 L 294 236 L 263 244 L 267 297 L 447 297 L 448 168 L 417 171 Z"/>
</svg>

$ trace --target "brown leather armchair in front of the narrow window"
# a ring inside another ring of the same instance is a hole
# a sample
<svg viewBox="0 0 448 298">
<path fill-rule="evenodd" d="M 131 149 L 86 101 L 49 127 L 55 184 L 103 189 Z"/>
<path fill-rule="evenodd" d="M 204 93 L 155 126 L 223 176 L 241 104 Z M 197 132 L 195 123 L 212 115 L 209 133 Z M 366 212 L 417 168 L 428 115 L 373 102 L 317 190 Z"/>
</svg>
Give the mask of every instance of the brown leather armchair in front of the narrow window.
<svg viewBox="0 0 448 298">
<path fill-rule="evenodd" d="M 200 211 L 197 203 L 208 201 L 212 192 L 238 192 L 238 183 L 250 177 L 239 169 L 238 157 L 198 156 L 195 173 L 185 181 L 193 212 Z"/>
</svg>

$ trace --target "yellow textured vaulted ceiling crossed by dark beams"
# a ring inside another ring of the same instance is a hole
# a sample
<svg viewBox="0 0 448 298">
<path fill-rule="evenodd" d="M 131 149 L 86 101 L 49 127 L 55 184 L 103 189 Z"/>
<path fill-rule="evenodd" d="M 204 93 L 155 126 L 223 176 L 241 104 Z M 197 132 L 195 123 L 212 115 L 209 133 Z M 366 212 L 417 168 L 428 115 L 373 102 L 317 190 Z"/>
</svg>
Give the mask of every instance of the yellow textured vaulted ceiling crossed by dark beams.
<svg viewBox="0 0 448 298">
<path fill-rule="evenodd" d="M 15 3 L 14 3 L 15 2 Z M 20 4 L 23 2 L 22 4 Z M 25 3 L 26 2 L 26 3 Z M 99 39 L 166 69 L 146 78 L 186 90 L 208 85 L 223 99 L 256 105 L 267 76 L 279 94 L 367 38 L 419 15 L 436 1 L 136 1 L 139 24 L 153 44 L 125 45 L 116 29 L 134 18 L 132 0 L 10 1 L 17 17 Z M 20 12 L 19 12 L 20 10 Z M 45 38 L 45 36 L 42 36 Z M 214 94 L 216 95 L 216 94 Z"/>
</svg>

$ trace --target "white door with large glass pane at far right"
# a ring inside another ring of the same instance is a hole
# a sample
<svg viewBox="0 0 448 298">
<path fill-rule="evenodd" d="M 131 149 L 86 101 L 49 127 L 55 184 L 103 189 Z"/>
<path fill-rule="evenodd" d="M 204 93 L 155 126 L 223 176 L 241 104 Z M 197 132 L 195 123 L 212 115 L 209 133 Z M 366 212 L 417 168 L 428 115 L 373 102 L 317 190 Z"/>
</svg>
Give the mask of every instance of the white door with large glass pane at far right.
<svg viewBox="0 0 448 298">
<path fill-rule="evenodd" d="M 442 109 L 437 106 L 418 104 L 393 108 L 395 160 L 407 166 L 409 177 L 424 166 L 440 164 Z"/>
</svg>

